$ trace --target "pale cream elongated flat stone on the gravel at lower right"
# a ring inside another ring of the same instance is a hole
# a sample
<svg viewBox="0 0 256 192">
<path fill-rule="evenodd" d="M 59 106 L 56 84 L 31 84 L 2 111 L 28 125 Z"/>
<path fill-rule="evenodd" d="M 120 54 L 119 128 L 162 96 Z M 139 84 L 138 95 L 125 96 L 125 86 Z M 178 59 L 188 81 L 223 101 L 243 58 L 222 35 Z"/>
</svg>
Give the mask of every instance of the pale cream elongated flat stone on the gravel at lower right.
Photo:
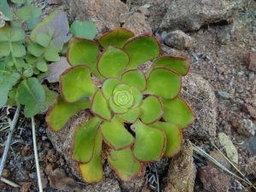
<svg viewBox="0 0 256 192">
<path fill-rule="evenodd" d="M 220 145 L 224 148 L 227 157 L 234 163 L 238 164 L 238 153 L 236 147 L 230 141 L 230 138 L 226 134 L 224 134 L 224 132 L 219 132 L 218 140 Z"/>
</svg>

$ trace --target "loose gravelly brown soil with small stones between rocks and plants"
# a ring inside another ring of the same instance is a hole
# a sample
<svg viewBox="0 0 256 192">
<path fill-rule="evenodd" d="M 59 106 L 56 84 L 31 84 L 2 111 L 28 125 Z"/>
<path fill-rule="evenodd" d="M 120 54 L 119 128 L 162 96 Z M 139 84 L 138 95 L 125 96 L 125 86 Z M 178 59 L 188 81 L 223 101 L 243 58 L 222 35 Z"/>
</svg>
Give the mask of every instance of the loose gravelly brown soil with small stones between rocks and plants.
<svg viewBox="0 0 256 192">
<path fill-rule="evenodd" d="M 44 1 L 35 2 L 43 3 Z M 143 5 L 143 2 L 145 1 L 133 1 L 131 3 L 131 9 Z M 49 9 L 57 8 L 58 6 L 56 5 L 47 5 L 43 9 L 44 15 L 49 13 Z M 240 11 L 241 17 L 243 16 L 243 12 L 250 12 L 255 8 L 256 3 L 253 3 L 253 6 L 245 7 Z M 150 10 L 154 11 L 154 9 Z M 157 17 L 161 16 L 160 14 L 157 15 Z M 148 20 L 151 20 L 153 29 L 155 26 L 160 25 L 160 23 L 154 23 L 152 21 L 154 18 L 149 17 Z M 155 20 L 159 20 L 159 18 L 155 18 Z M 242 110 L 242 106 L 244 104 L 256 105 L 256 78 L 249 79 L 252 72 L 247 68 L 248 55 L 256 50 L 256 32 L 253 25 L 247 25 L 231 34 L 230 42 L 220 44 L 218 32 L 225 26 L 223 23 L 217 23 L 202 26 L 196 32 L 187 32 L 189 36 L 195 38 L 195 49 L 178 52 L 173 50 L 173 54 L 178 53 L 178 55 L 187 57 L 190 63 L 193 63 L 190 67 L 190 72 L 207 79 L 212 85 L 213 90 L 223 90 L 230 94 L 230 99 L 218 100 L 217 132 L 224 132 L 231 138 L 239 154 L 237 168 L 254 183 L 256 182 L 256 154 L 253 154 L 252 150 L 245 147 L 244 143 L 247 143 L 248 137 L 237 133 L 236 129 L 232 127 L 231 122 L 234 119 L 254 120 L 249 113 Z M 166 47 L 165 44 L 162 44 L 162 48 L 164 50 L 171 49 Z M 196 58 L 201 60 L 195 62 Z M 7 115 L 8 112 L 9 115 Z M 0 112 L 0 154 L 3 154 L 4 143 L 9 133 L 9 128 L 7 127 L 9 125 L 8 117 L 12 119 L 14 113 L 15 108 L 2 108 Z M 49 173 L 55 170 L 55 168 L 64 169 L 68 177 L 73 177 L 78 182 L 81 182 L 73 176 L 64 158 L 55 151 L 55 148 L 50 143 L 45 132 L 47 126 L 44 122 L 44 115 L 37 115 L 35 119 L 37 125 L 38 157 L 44 191 L 58 191 L 57 189 L 51 188 L 48 178 Z M 7 128 L 4 129 L 5 127 Z M 191 142 L 201 145 L 207 152 L 212 149 L 209 141 Z M 234 170 L 231 171 L 235 172 Z M 166 172 L 162 172 L 162 174 L 160 177 L 165 176 L 164 174 Z M 7 177 L 10 181 L 20 184 L 21 189 L 13 188 L 6 183 L 0 182 L 0 191 L 38 191 L 37 173 L 32 147 L 31 119 L 26 119 L 22 113 L 15 129 L 3 177 Z M 200 185 L 200 181 L 197 181 L 196 184 Z M 160 180 L 160 186 L 162 188 L 166 186 L 166 179 Z M 236 183 L 232 179 L 229 191 L 241 191 L 236 188 Z"/>
</svg>

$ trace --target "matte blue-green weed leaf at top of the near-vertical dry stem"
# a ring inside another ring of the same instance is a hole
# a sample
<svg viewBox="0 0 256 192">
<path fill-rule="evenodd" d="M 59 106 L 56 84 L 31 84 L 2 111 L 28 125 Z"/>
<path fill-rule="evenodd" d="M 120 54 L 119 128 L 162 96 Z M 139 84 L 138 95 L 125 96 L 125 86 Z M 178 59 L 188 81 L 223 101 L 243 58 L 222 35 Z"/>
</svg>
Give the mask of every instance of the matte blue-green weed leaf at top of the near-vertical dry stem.
<svg viewBox="0 0 256 192">
<path fill-rule="evenodd" d="M 38 83 L 38 79 L 24 79 L 21 81 L 17 93 L 18 102 L 25 105 L 24 114 L 26 117 L 32 117 L 38 112 L 47 110 L 44 103 L 45 91 L 42 84 Z"/>
</svg>

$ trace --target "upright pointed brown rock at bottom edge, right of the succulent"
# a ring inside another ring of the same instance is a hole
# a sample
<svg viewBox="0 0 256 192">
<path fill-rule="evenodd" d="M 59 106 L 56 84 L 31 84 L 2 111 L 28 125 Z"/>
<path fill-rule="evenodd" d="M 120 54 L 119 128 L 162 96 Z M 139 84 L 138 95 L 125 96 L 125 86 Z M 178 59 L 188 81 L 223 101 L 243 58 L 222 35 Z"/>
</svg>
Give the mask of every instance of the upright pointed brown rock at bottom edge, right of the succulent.
<svg viewBox="0 0 256 192">
<path fill-rule="evenodd" d="M 194 191 L 196 170 L 192 155 L 192 144 L 186 140 L 181 152 L 171 161 L 165 192 Z"/>
</svg>

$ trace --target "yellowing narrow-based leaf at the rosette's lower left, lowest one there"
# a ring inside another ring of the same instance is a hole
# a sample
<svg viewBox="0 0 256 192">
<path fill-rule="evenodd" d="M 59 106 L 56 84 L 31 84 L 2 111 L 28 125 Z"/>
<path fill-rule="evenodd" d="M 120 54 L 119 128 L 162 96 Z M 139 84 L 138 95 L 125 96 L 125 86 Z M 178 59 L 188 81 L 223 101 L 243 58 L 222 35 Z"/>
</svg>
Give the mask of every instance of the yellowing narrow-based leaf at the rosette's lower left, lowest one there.
<svg viewBox="0 0 256 192">
<path fill-rule="evenodd" d="M 91 160 L 86 163 L 80 163 L 79 169 L 82 177 L 86 183 L 100 183 L 103 178 L 102 169 L 102 136 L 97 131 L 96 138 L 94 140 L 93 155 Z"/>
</svg>

